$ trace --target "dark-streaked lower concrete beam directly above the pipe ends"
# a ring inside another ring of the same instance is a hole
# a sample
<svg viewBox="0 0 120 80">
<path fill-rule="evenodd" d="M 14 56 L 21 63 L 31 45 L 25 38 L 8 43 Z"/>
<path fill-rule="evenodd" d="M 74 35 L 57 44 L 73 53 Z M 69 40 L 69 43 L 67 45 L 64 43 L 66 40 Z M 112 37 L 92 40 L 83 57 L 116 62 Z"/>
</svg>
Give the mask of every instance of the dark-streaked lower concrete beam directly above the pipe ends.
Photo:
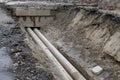
<svg viewBox="0 0 120 80">
<path fill-rule="evenodd" d="M 25 27 L 44 27 L 53 20 L 54 17 L 19 17 L 18 23 Z"/>
</svg>

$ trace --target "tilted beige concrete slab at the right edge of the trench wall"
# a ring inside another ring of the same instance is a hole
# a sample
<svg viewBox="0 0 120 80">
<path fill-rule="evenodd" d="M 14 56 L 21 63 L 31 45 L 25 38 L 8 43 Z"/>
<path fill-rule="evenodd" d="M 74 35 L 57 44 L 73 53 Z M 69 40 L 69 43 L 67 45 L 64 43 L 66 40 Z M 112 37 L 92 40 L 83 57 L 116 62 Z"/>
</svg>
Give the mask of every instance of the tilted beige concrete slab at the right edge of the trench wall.
<svg viewBox="0 0 120 80">
<path fill-rule="evenodd" d="M 116 32 L 104 46 L 104 52 L 120 61 L 120 32 Z"/>
</svg>

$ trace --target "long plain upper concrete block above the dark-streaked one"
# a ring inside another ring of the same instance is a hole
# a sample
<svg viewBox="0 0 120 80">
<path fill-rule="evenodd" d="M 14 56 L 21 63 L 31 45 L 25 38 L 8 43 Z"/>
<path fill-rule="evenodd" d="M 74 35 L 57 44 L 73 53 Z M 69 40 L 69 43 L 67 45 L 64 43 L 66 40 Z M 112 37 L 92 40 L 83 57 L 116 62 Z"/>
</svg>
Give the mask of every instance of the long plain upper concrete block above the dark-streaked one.
<svg viewBox="0 0 120 80">
<path fill-rule="evenodd" d="M 17 8 L 15 10 L 16 16 L 50 16 L 51 10 L 40 10 L 40 9 L 34 9 L 34 8 Z"/>
</svg>

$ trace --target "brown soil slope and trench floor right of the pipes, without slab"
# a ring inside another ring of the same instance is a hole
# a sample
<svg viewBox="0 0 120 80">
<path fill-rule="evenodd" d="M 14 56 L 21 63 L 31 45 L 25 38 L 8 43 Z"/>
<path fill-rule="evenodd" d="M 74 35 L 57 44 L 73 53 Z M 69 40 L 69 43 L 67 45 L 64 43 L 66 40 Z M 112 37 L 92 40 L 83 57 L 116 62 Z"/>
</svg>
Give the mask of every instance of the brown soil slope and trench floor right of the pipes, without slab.
<svg viewBox="0 0 120 80">
<path fill-rule="evenodd" d="M 119 80 L 119 62 L 103 52 L 104 41 L 99 43 L 97 41 L 101 40 L 101 37 L 100 39 L 99 36 L 97 36 L 98 39 L 95 37 L 99 34 L 97 30 L 107 28 L 109 31 L 102 38 L 109 39 L 119 30 L 118 26 L 119 24 L 112 21 L 110 16 L 103 16 L 94 11 L 69 9 L 60 11 L 52 24 L 41 27 L 41 32 L 63 55 L 69 56 L 74 63 L 81 64 L 82 68 L 78 69 L 89 70 L 96 65 L 101 66 L 104 71 L 100 75 L 94 75 L 95 80 Z M 96 32 L 94 35 L 92 32 L 88 34 L 89 30 Z"/>
</svg>

